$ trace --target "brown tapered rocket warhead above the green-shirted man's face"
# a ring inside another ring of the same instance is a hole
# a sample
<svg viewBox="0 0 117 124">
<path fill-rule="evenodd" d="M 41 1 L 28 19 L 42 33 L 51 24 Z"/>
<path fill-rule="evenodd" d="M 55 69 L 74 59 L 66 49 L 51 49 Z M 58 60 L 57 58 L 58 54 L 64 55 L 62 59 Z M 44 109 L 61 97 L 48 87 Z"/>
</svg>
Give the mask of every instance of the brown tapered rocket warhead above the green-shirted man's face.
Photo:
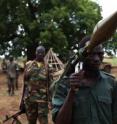
<svg viewBox="0 0 117 124">
<path fill-rule="evenodd" d="M 111 14 L 108 18 L 99 21 L 92 33 L 91 42 L 87 47 L 87 51 L 91 51 L 100 43 L 108 40 L 116 31 L 117 28 L 117 11 Z"/>
</svg>

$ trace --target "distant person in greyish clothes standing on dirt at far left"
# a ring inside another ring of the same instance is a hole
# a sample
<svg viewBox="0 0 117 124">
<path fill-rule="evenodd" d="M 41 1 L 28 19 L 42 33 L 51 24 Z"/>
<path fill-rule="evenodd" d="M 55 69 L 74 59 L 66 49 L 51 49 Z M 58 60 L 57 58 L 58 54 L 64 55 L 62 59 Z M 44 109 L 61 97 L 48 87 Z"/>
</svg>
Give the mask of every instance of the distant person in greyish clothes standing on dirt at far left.
<svg viewBox="0 0 117 124">
<path fill-rule="evenodd" d="M 13 57 L 9 58 L 9 63 L 7 65 L 7 76 L 8 76 L 8 94 L 14 95 L 14 87 L 16 82 L 16 69 L 17 64 L 14 62 Z"/>
</svg>

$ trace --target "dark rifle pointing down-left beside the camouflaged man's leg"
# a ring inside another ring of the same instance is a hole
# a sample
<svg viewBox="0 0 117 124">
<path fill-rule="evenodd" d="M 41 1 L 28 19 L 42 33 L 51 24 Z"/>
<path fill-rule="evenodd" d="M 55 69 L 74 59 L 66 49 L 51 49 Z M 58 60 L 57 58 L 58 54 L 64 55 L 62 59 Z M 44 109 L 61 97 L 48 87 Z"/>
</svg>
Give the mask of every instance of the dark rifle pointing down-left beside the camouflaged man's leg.
<svg viewBox="0 0 117 124">
<path fill-rule="evenodd" d="M 24 113 L 23 111 L 18 111 L 17 113 L 15 113 L 11 116 L 6 115 L 6 119 L 3 120 L 3 123 L 5 123 L 6 121 L 8 121 L 10 119 L 13 119 L 12 124 L 14 124 L 15 122 L 16 122 L 16 124 L 21 124 L 21 122 L 18 120 L 17 117 L 23 113 Z"/>
</svg>

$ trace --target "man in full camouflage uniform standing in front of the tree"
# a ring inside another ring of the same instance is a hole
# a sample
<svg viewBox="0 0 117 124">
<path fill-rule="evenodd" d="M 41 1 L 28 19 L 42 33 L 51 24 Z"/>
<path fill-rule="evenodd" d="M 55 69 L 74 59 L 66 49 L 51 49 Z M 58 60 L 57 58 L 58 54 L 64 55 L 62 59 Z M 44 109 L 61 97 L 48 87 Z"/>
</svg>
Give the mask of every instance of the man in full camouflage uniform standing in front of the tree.
<svg viewBox="0 0 117 124">
<path fill-rule="evenodd" d="M 48 71 L 44 63 L 45 48 L 36 48 L 36 58 L 28 61 L 24 71 L 24 94 L 20 109 L 25 104 L 29 124 L 48 124 L 49 84 Z"/>
</svg>

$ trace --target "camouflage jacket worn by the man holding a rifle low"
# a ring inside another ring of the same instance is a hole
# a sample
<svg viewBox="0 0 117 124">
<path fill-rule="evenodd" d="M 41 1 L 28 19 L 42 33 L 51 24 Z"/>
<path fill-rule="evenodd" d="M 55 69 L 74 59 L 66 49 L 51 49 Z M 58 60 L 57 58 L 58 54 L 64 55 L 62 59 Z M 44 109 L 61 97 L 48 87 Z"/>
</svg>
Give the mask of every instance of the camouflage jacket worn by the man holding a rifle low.
<svg viewBox="0 0 117 124">
<path fill-rule="evenodd" d="M 26 85 L 24 99 L 31 101 L 43 102 L 48 101 L 48 79 L 47 69 L 44 63 L 37 61 L 29 61 L 26 63 L 25 74 L 29 75 L 29 79 L 24 81 Z"/>
</svg>

